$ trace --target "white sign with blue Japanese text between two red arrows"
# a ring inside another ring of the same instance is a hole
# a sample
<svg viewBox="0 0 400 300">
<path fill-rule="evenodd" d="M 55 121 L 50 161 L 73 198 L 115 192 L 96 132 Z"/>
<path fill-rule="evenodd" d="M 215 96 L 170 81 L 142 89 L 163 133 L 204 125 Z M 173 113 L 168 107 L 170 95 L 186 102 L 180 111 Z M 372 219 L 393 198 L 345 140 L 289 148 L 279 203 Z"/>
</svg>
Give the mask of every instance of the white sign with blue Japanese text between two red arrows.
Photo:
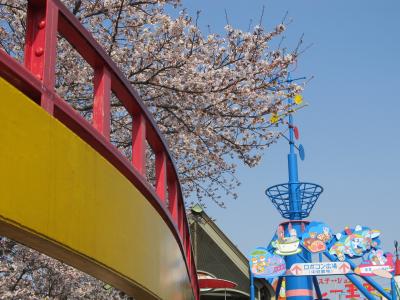
<svg viewBox="0 0 400 300">
<path fill-rule="evenodd" d="M 350 273 L 351 268 L 347 262 L 321 262 L 309 264 L 293 264 L 290 274 L 295 276 L 309 275 L 340 275 Z"/>
</svg>

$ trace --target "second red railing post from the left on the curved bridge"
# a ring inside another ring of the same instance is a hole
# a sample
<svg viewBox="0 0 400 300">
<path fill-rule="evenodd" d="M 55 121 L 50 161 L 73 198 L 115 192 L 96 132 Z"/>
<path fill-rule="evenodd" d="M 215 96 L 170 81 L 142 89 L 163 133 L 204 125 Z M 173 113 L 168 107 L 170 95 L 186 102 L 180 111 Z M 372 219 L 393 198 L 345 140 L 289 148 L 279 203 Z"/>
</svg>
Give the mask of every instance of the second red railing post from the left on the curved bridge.
<svg viewBox="0 0 400 300">
<path fill-rule="evenodd" d="M 111 75 L 106 67 L 94 70 L 93 126 L 110 140 Z"/>
</svg>

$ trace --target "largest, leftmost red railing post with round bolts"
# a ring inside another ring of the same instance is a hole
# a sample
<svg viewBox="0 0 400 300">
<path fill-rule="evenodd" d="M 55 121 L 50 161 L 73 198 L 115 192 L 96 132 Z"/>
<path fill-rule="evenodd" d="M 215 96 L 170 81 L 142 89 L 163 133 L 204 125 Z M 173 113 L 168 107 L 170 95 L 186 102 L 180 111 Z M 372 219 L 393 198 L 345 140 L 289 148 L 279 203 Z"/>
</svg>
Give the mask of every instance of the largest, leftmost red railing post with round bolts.
<svg viewBox="0 0 400 300">
<path fill-rule="evenodd" d="M 58 8 L 52 0 L 28 2 L 25 36 L 25 67 L 53 91 L 57 51 Z M 54 104 L 47 93 L 41 96 L 41 106 L 53 114 Z"/>
</svg>

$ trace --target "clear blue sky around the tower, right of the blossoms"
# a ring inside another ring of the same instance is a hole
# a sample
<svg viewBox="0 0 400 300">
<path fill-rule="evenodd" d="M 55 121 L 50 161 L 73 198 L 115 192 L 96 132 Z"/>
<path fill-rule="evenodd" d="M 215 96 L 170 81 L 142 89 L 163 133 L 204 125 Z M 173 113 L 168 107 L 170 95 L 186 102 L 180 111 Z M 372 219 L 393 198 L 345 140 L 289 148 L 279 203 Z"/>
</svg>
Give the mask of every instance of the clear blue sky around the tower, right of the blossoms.
<svg viewBox="0 0 400 300">
<path fill-rule="evenodd" d="M 199 25 L 222 32 L 229 22 L 247 29 L 259 20 L 273 28 L 285 12 L 293 19 L 286 45 L 302 33 L 313 44 L 300 58 L 298 75 L 315 76 L 304 91 L 310 104 L 295 115 L 306 160 L 299 162 L 301 181 L 325 191 L 309 220 L 332 229 L 357 224 L 382 230 L 383 248 L 400 240 L 400 1 L 361 0 L 183 0 Z M 287 181 L 288 145 L 282 140 L 265 152 L 253 169 L 240 167 L 239 198 L 207 212 L 247 254 L 269 242 L 279 213 L 266 198 L 267 187 Z"/>
</svg>

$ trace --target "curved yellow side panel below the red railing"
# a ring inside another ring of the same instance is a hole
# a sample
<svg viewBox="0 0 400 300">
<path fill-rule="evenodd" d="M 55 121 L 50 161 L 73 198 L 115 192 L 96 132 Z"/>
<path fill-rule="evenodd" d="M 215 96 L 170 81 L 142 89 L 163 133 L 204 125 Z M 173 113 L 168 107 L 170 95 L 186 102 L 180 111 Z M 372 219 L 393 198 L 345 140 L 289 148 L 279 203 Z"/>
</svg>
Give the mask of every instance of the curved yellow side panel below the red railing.
<svg viewBox="0 0 400 300">
<path fill-rule="evenodd" d="M 138 299 L 192 299 L 180 248 L 114 166 L 0 78 L 0 234 Z"/>
</svg>

